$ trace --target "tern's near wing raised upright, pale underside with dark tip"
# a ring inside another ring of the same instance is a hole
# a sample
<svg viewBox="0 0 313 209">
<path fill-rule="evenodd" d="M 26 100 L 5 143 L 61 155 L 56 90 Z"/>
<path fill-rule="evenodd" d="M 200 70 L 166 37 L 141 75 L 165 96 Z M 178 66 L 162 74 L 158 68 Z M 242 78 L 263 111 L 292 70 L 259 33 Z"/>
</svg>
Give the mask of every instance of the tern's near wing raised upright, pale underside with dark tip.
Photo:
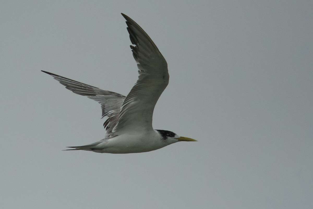
<svg viewBox="0 0 313 209">
<path fill-rule="evenodd" d="M 152 129 L 154 107 L 169 80 L 167 62 L 156 45 L 135 21 L 122 15 L 131 43 L 135 45 L 131 49 L 138 63 L 139 77 L 122 104 L 119 121 L 113 129 L 117 134 Z"/>
</svg>

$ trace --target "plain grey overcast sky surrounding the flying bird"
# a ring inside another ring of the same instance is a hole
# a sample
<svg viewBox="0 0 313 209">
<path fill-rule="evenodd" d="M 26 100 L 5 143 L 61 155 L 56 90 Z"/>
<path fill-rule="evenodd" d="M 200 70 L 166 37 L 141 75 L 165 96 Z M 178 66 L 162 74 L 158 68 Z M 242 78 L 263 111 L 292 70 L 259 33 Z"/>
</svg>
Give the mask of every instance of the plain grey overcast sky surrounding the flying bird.
<svg viewBox="0 0 313 209">
<path fill-rule="evenodd" d="M 313 208 L 313 3 L 5 1 L 1 208 Z M 61 151 L 104 138 L 100 105 L 40 72 L 127 95 L 120 13 L 168 63 L 155 129 L 198 142 Z"/>
</svg>

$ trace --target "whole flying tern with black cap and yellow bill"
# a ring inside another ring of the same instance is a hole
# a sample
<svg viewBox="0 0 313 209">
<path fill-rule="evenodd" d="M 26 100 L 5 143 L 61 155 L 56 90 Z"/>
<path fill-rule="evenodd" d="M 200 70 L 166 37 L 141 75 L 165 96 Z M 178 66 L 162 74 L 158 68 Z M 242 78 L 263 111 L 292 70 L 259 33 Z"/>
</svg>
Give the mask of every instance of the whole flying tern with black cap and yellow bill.
<svg viewBox="0 0 313 209">
<path fill-rule="evenodd" d="M 160 149 L 179 141 L 197 141 L 178 136 L 176 133 L 152 128 L 152 114 L 160 95 L 169 80 L 167 62 L 146 34 L 131 18 L 123 14 L 133 56 L 138 63 L 139 76 L 136 84 L 125 97 L 105 91 L 53 73 L 48 73 L 75 94 L 86 96 L 100 103 L 105 138 L 92 144 L 66 150 L 87 150 L 98 153 L 139 153 Z"/>
</svg>

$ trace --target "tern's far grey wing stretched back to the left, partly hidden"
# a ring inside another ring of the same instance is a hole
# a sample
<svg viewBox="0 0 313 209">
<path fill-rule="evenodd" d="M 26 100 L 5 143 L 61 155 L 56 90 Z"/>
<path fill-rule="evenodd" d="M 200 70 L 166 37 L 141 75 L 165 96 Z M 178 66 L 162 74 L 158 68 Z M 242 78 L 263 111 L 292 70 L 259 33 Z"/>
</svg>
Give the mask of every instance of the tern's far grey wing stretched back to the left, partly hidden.
<svg viewBox="0 0 313 209">
<path fill-rule="evenodd" d="M 121 105 L 125 99 L 125 96 L 112 91 L 105 91 L 95 86 L 90 86 L 53 73 L 46 71 L 43 72 L 53 76 L 55 80 L 59 81 L 62 85 L 64 85 L 70 91 L 73 91 L 75 94 L 86 96 L 99 102 L 102 110 L 102 118 L 108 117 L 108 119 L 103 124 L 106 130 L 105 138 L 110 138 L 112 129 L 118 122 L 118 116 L 120 114 Z"/>
</svg>

